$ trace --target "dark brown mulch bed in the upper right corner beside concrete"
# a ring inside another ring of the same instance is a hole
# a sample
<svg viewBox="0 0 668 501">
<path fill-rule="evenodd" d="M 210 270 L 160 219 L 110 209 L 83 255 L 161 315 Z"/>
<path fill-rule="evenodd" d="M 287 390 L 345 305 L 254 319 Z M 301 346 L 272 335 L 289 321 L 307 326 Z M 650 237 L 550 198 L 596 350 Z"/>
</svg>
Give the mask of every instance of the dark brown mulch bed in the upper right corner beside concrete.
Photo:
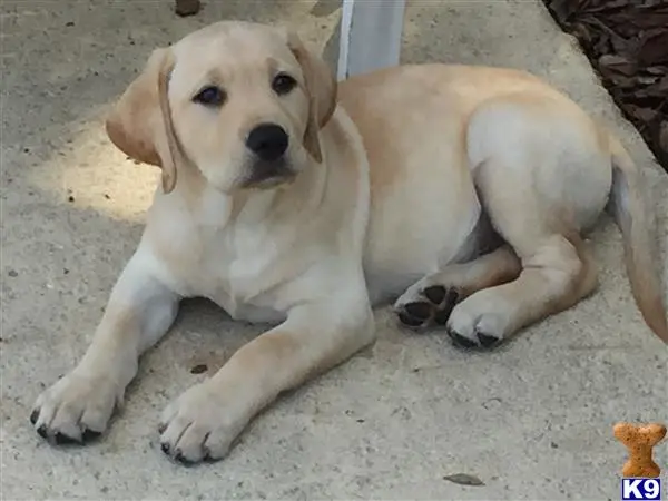
<svg viewBox="0 0 668 501">
<path fill-rule="evenodd" d="M 668 0 L 543 0 L 668 170 Z"/>
</svg>

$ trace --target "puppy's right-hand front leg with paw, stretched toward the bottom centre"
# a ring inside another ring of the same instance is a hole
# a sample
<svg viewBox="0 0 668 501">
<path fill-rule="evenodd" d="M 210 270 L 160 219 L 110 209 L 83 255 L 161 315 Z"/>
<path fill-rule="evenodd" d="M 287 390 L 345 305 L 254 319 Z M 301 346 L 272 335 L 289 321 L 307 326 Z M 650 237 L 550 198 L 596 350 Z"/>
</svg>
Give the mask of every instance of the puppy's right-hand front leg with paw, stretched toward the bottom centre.
<svg viewBox="0 0 668 501">
<path fill-rule="evenodd" d="M 352 308 L 304 305 L 238 350 L 209 380 L 163 414 L 161 448 L 188 464 L 225 456 L 237 435 L 279 393 L 343 362 L 374 338 L 367 298 Z"/>
</svg>

